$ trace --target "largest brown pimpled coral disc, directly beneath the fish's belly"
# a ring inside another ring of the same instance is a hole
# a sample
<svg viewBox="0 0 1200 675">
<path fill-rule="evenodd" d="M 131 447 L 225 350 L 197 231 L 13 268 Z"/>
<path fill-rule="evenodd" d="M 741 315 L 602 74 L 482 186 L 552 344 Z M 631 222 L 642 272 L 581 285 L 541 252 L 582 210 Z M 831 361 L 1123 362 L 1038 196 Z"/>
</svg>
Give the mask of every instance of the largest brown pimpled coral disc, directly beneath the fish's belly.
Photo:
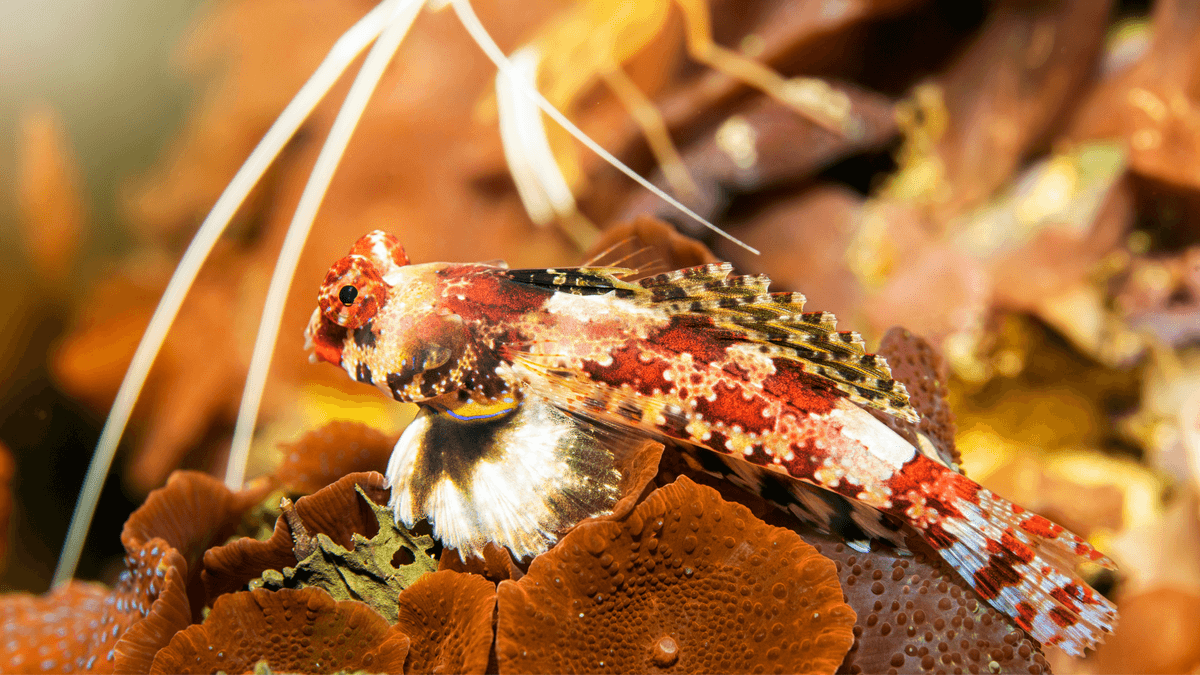
<svg viewBox="0 0 1200 675">
<path fill-rule="evenodd" d="M 853 641 L 828 558 L 684 477 L 498 596 L 502 673 L 833 673 Z"/>
</svg>

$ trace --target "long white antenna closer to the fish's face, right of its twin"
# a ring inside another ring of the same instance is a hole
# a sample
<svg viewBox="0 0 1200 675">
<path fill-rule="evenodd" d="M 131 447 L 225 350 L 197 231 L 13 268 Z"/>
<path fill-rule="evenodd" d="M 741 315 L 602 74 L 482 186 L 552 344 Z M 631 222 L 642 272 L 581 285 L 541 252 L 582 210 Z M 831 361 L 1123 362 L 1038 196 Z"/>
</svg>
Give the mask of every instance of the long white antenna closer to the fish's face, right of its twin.
<svg viewBox="0 0 1200 675">
<path fill-rule="evenodd" d="M 346 151 L 346 145 L 358 126 L 362 110 L 374 92 L 379 78 L 383 77 L 384 68 L 396 54 L 401 41 L 408 34 L 408 29 L 416 20 L 416 14 L 424 6 L 424 0 L 390 0 L 383 5 L 388 6 L 388 28 L 383 30 L 371 52 L 367 53 L 362 68 L 354 78 L 350 91 L 346 95 L 342 108 L 337 112 L 334 126 L 329 130 L 329 137 L 317 155 L 317 163 L 312 167 L 308 183 L 300 195 L 295 214 L 292 216 L 292 225 L 288 226 L 288 234 L 283 239 L 283 247 L 275 263 L 275 273 L 271 275 L 271 285 L 266 291 L 266 305 L 263 307 L 263 319 L 258 324 L 258 338 L 254 340 L 254 353 L 250 359 L 250 370 L 246 372 L 246 388 L 241 395 L 241 407 L 238 410 L 238 423 L 233 430 L 233 443 L 229 447 L 229 462 L 226 465 L 226 485 L 230 490 L 240 490 L 246 477 L 246 461 L 250 458 L 250 443 L 254 436 L 254 424 L 258 422 L 258 408 L 263 401 L 263 389 L 266 387 L 266 374 L 271 368 L 271 357 L 275 354 L 275 341 L 280 335 L 280 324 L 283 322 L 283 305 L 288 299 L 288 289 L 292 287 L 292 277 L 295 275 L 296 264 L 300 262 L 300 252 L 304 250 L 305 240 L 312 229 L 312 222 L 317 217 L 317 209 L 325 198 L 325 191 L 334 178 L 337 163 Z"/>
</svg>

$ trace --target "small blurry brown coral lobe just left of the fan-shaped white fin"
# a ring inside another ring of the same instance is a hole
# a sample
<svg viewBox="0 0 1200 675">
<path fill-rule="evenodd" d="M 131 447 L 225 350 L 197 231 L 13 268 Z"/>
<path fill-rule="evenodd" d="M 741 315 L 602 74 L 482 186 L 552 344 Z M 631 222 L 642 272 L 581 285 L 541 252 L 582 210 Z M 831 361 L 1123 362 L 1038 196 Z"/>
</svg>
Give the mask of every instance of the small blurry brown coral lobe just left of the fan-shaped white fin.
<svg viewBox="0 0 1200 675">
<path fill-rule="evenodd" d="M 275 476 L 289 490 L 316 492 L 347 473 L 382 471 L 395 444 L 395 436 L 361 422 L 334 420 L 282 443 L 283 461 Z"/>
</svg>

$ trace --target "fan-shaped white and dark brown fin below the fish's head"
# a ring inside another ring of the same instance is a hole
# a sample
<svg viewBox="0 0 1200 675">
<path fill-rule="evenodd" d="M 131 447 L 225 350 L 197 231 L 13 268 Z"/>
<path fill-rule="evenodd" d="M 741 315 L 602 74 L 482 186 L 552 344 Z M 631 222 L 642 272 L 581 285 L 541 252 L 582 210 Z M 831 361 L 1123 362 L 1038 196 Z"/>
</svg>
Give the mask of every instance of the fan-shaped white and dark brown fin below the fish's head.
<svg viewBox="0 0 1200 675">
<path fill-rule="evenodd" d="M 388 464 L 391 508 L 462 555 L 487 542 L 517 557 L 548 549 L 584 518 L 612 509 L 620 473 L 619 436 L 545 399 L 497 400 L 452 410 L 422 407 Z"/>
</svg>

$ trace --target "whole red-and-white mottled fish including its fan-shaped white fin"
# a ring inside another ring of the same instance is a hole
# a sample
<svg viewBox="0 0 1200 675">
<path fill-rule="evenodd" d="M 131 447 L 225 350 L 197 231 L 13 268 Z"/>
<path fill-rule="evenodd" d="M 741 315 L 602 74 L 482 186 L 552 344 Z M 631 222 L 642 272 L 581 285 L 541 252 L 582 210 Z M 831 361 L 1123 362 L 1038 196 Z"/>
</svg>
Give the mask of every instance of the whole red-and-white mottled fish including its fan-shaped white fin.
<svg viewBox="0 0 1200 675">
<path fill-rule="evenodd" d="M 612 455 L 652 436 L 785 485 L 775 501 L 798 515 L 820 520 L 823 490 L 871 536 L 907 526 L 1043 643 L 1082 655 L 1111 632 L 1115 608 L 1074 572 L 1111 562 L 868 412 L 918 419 L 832 315 L 727 264 L 631 274 L 414 265 L 382 232 L 334 264 L 306 331 L 314 357 L 422 406 L 389 466 L 397 519 L 428 518 L 460 550 L 536 554 L 611 507 Z"/>
</svg>

